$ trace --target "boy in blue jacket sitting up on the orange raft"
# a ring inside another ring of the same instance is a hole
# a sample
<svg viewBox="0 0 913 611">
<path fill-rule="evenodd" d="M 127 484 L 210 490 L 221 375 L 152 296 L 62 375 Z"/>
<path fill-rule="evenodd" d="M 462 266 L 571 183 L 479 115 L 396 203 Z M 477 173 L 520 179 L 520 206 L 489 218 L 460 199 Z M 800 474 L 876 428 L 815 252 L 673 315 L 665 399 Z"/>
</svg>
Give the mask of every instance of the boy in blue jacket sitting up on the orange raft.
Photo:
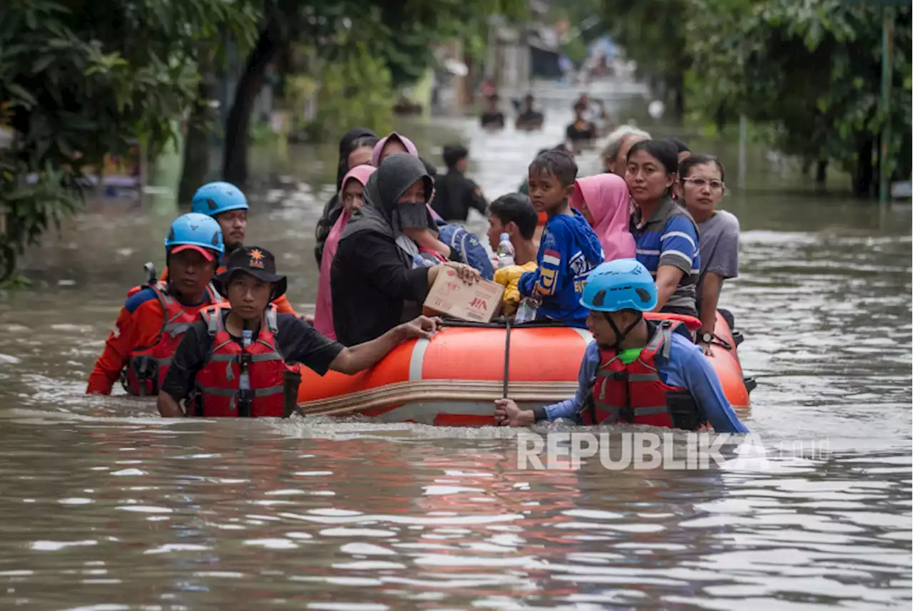
<svg viewBox="0 0 913 611">
<path fill-rule="evenodd" d="M 542 153 L 530 163 L 530 202 L 548 221 L 536 263 L 539 269 L 520 276 L 519 293 L 540 301 L 536 320 L 560 320 L 586 328 L 589 311 L 580 298 L 586 276 L 603 263 L 603 246 L 570 198 L 577 164 L 560 150 Z"/>
</svg>

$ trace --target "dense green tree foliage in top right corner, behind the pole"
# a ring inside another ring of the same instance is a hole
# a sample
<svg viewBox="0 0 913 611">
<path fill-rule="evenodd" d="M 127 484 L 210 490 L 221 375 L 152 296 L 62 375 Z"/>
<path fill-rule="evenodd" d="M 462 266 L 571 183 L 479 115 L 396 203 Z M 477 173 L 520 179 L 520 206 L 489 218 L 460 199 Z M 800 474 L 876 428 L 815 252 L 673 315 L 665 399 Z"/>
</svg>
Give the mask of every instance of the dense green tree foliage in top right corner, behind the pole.
<svg viewBox="0 0 913 611">
<path fill-rule="evenodd" d="M 836 161 L 872 192 L 873 145 L 891 121 L 890 171 L 913 171 L 913 9 L 897 7 L 892 107 L 881 94 L 880 6 L 842 0 L 688 0 L 693 92 L 708 114 L 740 112 L 788 154 Z"/>
</svg>

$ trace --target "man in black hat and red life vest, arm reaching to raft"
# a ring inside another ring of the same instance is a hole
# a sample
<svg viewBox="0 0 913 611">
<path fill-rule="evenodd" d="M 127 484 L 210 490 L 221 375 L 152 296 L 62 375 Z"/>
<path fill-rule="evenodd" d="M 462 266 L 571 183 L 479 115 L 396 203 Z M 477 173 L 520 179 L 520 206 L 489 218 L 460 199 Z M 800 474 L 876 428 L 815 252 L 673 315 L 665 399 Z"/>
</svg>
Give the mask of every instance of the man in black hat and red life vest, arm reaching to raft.
<svg viewBox="0 0 913 611">
<path fill-rule="evenodd" d="M 230 307 L 201 313 L 174 353 L 158 399 L 164 418 L 288 416 L 298 397 L 301 363 L 320 375 L 370 368 L 407 339 L 432 337 L 440 322 L 419 316 L 370 342 L 343 347 L 297 316 L 270 304 L 283 295 L 286 277 L 265 248 L 245 246 L 215 276 Z M 186 412 L 180 401 L 189 399 Z"/>
</svg>

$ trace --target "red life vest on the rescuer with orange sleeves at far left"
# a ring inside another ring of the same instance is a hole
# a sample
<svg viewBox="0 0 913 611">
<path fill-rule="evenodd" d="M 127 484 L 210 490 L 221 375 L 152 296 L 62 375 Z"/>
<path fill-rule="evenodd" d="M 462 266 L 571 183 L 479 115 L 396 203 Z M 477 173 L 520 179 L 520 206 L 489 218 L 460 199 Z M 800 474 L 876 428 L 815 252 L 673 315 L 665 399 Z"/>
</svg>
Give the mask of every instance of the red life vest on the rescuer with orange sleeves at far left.
<svg viewBox="0 0 913 611">
<path fill-rule="evenodd" d="M 172 295 L 168 294 L 168 284 L 159 280 L 148 285 L 135 286 L 127 296 L 135 295 L 144 288 L 151 288 L 155 298 L 162 306 L 162 330 L 149 346 L 136 347 L 131 350 L 127 360 L 127 368 L 121 372 L 121 385 L 131 395 L 147 397 L 159 394 L 159 388 L 171 366 L 171 359 L 178 344 L 187 332 L 187 328 L 194 323 L 199 307 L 184 306 Z M 222 296 L 216 293 L 213 285 L 206 286 L 206 296 L 210 304 L 223 301 Z M 202 306 L 201 306 L 202 307 Z"/>
</svg>

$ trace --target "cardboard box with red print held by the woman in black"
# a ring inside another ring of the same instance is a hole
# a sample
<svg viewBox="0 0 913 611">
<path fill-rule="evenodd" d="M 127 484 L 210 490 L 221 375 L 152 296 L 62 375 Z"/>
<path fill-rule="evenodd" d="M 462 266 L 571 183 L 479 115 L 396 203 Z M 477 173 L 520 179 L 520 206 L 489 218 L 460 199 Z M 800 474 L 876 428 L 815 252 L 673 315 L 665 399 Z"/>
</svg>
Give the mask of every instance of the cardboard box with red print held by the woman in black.
<svg viewBox="0 0 913 611">
<path fill-rule="evenodd" d="M 488 323 L 501 309 L 501 295 L 504 295 L 503 285 L 489 280 L 467 285 L 456 275 L 456 270 L 445 267 L 428 292 L 425 308 L 462 320 Z"/>
</svg>

